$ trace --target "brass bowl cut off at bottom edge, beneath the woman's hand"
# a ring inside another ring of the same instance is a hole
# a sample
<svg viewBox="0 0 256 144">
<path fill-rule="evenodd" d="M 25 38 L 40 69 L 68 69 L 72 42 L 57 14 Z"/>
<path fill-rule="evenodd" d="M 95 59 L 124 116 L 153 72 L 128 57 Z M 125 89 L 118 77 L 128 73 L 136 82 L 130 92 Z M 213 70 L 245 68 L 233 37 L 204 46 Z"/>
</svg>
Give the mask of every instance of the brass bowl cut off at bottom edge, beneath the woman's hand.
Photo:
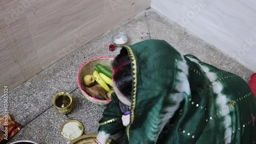
<svg viewBox="0 0 256 144">
<path fill-rule="evenodd" d="M 97 134 L 87 134 L 82 135 L 80 137 L 77 137 L 76 139 L 72 140 L 69 144 L 91 144 L 93 142 L 93 139 L 97 137 Z M 106 144 L 114 144 L 114 140 L 109 138 L 108 142 Z"/>
</svg>

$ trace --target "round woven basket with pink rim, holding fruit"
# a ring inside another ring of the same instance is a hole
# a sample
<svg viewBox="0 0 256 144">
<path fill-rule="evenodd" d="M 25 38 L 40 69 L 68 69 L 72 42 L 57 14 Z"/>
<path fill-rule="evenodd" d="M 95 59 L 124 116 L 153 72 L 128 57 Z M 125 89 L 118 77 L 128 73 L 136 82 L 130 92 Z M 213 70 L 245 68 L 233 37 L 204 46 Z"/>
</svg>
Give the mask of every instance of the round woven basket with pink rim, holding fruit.
<svg viewBox="0 0 256 144">
<path fill-rule="evenodd" d="M 113 57 L 106 57 L 106 56 L 94 57 L 94 58 L 91 58 L 91 59 L 85 61 L 80 66 L 80 68 L 78 70 L 78 74 L 77 74 L 78 87 L 79 87 L 80 91 L 82 92 L 82 94 L 86 97 L 86 99 L 93 102 L 94 104 L 105 106 L 105 105 L 108 105 L 111 102 L 111 100 L 99 100 L 99 99 L 92 97 L 86 91 L 84 91 L 82 89 L 82 87 L 84 87 L 83 77 L 86 75 L 91 75 L 93 73 L 93 71 L 95 70 L 94 66 L 96 64 L 102 64 L 105 67 L 113 70 L 112 69 L 113 60 L 114 60 Z"/>
</svg>

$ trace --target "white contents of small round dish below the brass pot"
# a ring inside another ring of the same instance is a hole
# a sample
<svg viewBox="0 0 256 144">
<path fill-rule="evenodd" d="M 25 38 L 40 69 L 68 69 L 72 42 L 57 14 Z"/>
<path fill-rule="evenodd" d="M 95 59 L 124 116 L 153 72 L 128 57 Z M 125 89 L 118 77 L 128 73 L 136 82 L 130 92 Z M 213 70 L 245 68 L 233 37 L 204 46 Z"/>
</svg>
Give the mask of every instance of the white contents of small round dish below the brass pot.
<svg viewBox="0 0 256 144">
<path fill-rule="evenodd" d="M 63 126 L 61 134 L 67 139 L 75 139 L 82 133 L 82 126 L 76 122 L 69 122 Z"/>
</svg>

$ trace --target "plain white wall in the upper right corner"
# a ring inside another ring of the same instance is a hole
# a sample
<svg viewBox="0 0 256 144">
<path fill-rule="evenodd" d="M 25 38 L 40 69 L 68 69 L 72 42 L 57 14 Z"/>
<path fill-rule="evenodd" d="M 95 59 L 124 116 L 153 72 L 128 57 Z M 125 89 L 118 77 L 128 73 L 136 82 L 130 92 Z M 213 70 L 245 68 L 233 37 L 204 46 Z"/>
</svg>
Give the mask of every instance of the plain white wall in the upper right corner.
<svg viewBox="0 0 256 144">
<path fill-rule="evenodd" d="M 256 1 L 152 0 L 151 7 L 256 72 Z"/>
</svg>

